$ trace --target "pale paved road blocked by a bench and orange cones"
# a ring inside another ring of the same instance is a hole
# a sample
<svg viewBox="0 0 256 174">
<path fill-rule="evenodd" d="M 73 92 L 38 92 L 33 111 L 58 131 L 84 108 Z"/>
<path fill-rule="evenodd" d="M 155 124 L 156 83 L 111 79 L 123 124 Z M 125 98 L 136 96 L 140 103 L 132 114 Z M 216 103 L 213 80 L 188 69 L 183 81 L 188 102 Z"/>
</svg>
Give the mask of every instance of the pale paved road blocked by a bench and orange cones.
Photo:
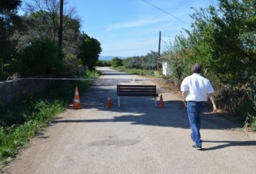
<svg viewBox="0 0 256 174">
<path fill-rule="evenodd" d="M 80 94 L 83 108 L 61 114 L 5 173 L 255 173 L 255 133 L 205 113 L 204 150 L 192 149 L 181 98 L 158 88 L 166 108 L 144 97 L 123 97 L 117 107 L 116 84 L 153 81 L 101 71 L 101 79 L 110 80 L 97 80 Z M 105 108 L 108 95 L 113 108 Z"/>
</svg>

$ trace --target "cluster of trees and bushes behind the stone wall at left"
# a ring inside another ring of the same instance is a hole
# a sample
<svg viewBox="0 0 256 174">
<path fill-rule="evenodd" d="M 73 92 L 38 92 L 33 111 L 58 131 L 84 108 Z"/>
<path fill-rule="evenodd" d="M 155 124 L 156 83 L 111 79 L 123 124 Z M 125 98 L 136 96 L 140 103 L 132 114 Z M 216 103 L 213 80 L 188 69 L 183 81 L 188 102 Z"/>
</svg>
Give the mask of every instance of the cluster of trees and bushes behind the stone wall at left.
<svg viewBox="0 0 256 174">
<path fill-rule="evenodd" d="M 75 7 L 65 9 L 60 44 L 58 2 L 9 0 L 0 3 L 0 80 L 42 74 L 69 76 L 81 72 L 82 67 L 95 70 L 101 44 L 80 31 Z M 18 15 L 21 5 L 24 15 Z"/>
</svg>

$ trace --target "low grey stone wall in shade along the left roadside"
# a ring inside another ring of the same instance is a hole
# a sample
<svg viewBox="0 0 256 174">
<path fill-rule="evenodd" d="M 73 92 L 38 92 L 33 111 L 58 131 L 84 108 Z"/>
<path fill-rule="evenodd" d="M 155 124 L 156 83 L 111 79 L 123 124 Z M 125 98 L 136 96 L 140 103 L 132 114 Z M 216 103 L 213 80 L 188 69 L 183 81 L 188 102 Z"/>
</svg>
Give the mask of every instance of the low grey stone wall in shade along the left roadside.
<svg viewBox="0 0 256 174">
<path fill-rule="evenodd" d="M 41 76 L 42 77 L 42 76 Z M 53 77 L 46 75 L 44 78 Z M 37 77 L 38 78 L 38 77 Z M 55 80 L 16 79 L 0 82 L 0 106 L 5 106 L 16 100 L 23 100 L 35 93 L 45 90 Z"/>
</svg>

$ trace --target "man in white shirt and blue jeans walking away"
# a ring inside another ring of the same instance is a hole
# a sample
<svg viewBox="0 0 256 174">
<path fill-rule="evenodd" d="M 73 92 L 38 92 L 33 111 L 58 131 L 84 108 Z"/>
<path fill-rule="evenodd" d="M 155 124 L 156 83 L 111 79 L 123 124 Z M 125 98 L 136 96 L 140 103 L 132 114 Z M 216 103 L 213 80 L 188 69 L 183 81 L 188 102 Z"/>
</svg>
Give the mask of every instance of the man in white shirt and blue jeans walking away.
<svg viewBox="0 0 256 174">
<path fill-rule="evenodd" d="M 185 107 L 187 107 L 188 110 L 188 120 L 191 126 L 191 140 L 195 143 L 193 145 L 194 149 L 201 149 L 201 115 L 207 97 L 211 100 L 213 113 L 217 113 L 214 89 L 211 86 L 211 82 L 201 76 L 201 69 L 201 64 L 194 64 L 192 66 L 193 74 L 185 77 L 181 83 L 181 94 Z"/>
</svg>

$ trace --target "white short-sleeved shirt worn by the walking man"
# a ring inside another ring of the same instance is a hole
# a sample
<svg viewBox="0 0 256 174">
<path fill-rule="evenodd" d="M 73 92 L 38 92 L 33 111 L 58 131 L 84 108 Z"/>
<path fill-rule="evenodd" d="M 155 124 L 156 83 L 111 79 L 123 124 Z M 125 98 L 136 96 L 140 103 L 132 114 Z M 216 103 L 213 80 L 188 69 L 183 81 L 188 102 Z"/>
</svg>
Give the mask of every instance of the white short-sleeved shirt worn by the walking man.
<svg viewBox="0 0 256 174">
<path fill-rule="evenodd" d="M 181 83 L 181 91 L 188 91 L 186 101 L 206 101 L 207 94 L 214 93 L 211 82 L 196 73 L 185 77 Z"/>
</svg>

